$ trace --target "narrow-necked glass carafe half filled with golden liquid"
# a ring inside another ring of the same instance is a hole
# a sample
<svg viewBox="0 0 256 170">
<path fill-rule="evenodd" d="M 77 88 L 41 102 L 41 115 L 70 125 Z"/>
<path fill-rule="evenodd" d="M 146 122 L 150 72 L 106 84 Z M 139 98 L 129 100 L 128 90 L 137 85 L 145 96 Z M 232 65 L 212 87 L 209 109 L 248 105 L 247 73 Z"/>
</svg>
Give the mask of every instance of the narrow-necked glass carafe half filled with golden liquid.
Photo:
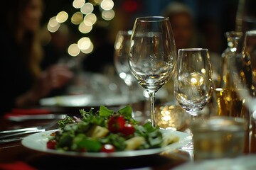
<svg viewBox="0 0 256 170">
<path fill-rule="evenodd" d="M 244 118 L 247 121 L 245 134 L 244 153 L 249 152 L 249 125 L 250 113 L 245 106 L 245 98 L 239 95 L 242 89 L 238 89 L 236 80 L 231 75 L 231 70 L 235 62 L 238 60 L 238 48 L 243 46 L 243 33 L 238 31 L 229 31 L 225 33 L 228 47 L 222 54 L 222 69 L 220 72 L 220 84 L 215 89 L 217 115 Z M 250 72 L 250 66 L 247 67 L 247 58 L 243 56 L 243 50 L 240 52 L 240 67 L 242 72 Z M 250 62 L 249 62 L 250 63 Z M 249 69 L 249 70 L 247 70 Z M 244 75 L 246 75 L 245 73 Z"/>
</svg>

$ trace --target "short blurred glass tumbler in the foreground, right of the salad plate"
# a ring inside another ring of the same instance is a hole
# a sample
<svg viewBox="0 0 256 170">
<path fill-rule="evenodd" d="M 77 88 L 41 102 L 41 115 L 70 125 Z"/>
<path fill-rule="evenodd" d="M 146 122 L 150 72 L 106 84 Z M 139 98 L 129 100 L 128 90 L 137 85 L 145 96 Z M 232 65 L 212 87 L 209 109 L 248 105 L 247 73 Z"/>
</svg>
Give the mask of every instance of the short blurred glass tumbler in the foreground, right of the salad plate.
<svg viewBox="0 0 256 170">
<path fill-rule="evenodd" d="M 244 119 L 229 116 L 211 116 L 205 121 L 193 121 L 194 160 L 242 156 L 245 127 Z"/>
</svg>

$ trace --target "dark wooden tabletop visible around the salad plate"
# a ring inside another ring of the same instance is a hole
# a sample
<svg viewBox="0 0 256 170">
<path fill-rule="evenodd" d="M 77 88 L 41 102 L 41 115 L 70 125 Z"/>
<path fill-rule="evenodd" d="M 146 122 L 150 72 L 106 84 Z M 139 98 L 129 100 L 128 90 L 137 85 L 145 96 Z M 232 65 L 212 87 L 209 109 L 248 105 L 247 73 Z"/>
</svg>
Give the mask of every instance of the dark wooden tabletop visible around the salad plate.
<svg viewBox="0 0 256 170">
<path fill-rule="evenodd" d="M 72 111 L 64 110 L 58 113 L 67 115 L 76 115 Z M 16 128 L 26 128 L 34 126 L 47 125 L 51 120 L 27 120 L 24 122 L 14 122 L 0 118 L 0 131 Z M 58 128 L 58 125 L 50 129 Z M 49 130 L 50 130 L 49 129 Z M 190 161 L 190 154 L 181 149 L 165 154 L 153 154 L 143 157 L 125 157 L 125 158 L 85 158 L 68 157 L 62 155 L 37 152 L 21 145 L 21 141 L 0 144 L 0 164 L 25 162 L 36 169 L 50 169 L 53 166 L 60 169 L 84 169 L 85 166 L 94 167 L 94 169 L 171 169 L 175 166 Z"/>
</svg>

